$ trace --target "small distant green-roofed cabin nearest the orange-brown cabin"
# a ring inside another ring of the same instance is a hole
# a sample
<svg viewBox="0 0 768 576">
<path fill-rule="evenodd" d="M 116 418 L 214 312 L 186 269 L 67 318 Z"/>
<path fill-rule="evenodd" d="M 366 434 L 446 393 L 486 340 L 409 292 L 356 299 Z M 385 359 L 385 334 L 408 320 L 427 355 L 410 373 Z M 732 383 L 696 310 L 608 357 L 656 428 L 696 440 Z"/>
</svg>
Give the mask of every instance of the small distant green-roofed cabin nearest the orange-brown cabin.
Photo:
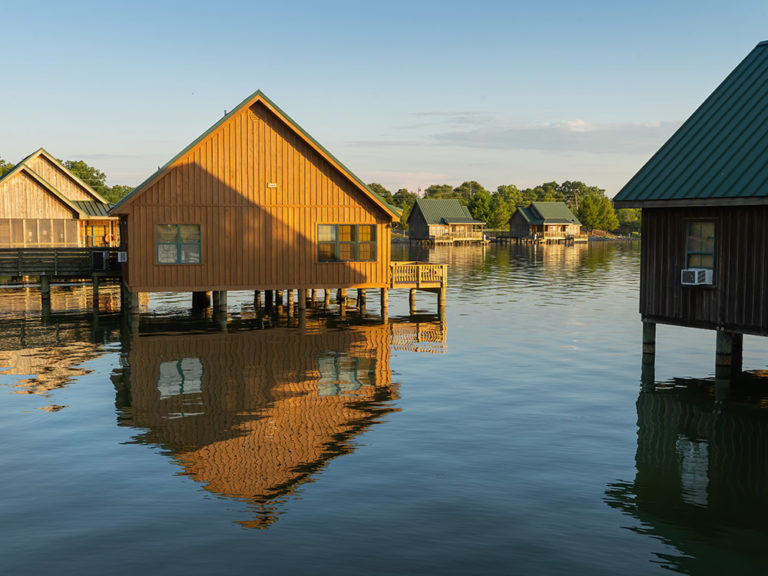
<svg viewBox="0 0 768 576">
<path fill-rule="evenodd" d="M 408 215 L 408 237 L 432 243 L 472 243 L 483 240 L 485 222 L 472 218 L 456 199 L 419 198 Z"/>
</svg>

